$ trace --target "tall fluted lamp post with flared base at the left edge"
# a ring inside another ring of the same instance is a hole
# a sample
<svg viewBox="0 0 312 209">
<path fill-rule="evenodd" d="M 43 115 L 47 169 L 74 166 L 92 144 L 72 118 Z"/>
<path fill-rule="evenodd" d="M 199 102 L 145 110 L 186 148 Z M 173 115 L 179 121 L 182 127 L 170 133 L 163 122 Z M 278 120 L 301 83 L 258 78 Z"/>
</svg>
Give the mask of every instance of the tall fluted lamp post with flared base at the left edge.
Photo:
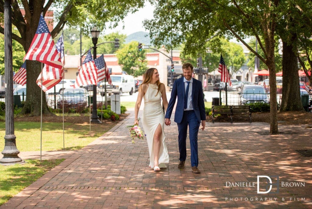
<svg viewBox="0 0 312 209">
<path fill-rule="evenodd" d="M 5 76 L 5 135 L 4 149 L 1 152 L 1 165 L 25 163 L 18 154 L 14 135 L 13 107 L 13 67 L 12 67 L 12 22 L 11 1 L 4 1 L 4 76 Z"/>
</svg>

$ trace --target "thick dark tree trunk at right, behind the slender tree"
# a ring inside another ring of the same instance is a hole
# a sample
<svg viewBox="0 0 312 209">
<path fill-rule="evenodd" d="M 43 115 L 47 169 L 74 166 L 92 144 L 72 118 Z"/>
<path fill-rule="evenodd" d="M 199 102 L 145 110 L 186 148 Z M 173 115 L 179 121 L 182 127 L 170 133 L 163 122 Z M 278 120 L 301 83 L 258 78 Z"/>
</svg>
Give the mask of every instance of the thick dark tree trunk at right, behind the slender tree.
<svg viewBox="0 0 312 209">
<path fill-rule="evenodd" d="M 304 110 L 300 99 L 298 60 L 293 45 L 283 41 L 283 88 L 280 111 Z"/>
</svg>

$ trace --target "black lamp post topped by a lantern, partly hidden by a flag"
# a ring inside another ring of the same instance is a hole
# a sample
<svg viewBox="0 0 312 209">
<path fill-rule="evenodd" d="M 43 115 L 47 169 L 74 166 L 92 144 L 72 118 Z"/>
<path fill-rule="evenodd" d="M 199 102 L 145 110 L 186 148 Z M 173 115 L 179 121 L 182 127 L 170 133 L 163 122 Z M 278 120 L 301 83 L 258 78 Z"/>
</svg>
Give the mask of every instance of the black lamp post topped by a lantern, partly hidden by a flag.
<svg viewBox="0 0 312 209">
<path fill-rule="evenodd" d="M 98 41 L 100 35 L 100 31 L 97 30 L 97 28 L 91 29 L 91 37 L 92 37 L 92 43 L 93 43 L 93 59 L 96 59 L 96 44 Z M 96 104 L 96 85 L 93 85 L 93 109 L 92 109 L 92 116 L 91 116 L 91 122 L 92 123 L 101 123 L 99 120 L 99 116 L 97 115 L 97 104 Z"/>
</svg>

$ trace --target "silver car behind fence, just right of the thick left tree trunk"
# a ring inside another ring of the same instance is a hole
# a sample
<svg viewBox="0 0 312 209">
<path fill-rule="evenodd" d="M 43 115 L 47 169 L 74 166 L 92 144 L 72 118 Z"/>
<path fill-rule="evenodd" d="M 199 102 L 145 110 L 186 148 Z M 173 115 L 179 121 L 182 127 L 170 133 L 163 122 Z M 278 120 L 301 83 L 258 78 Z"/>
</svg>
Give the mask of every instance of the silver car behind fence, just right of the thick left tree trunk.
<svg viewBox="0 0 312 209">
<path fill-rule="evenodd" d="M 88 105 L 88 91 L 84 88 L 66 88 L 61 91 L 58 96 L 57 105 L 60 107 L 63 104 L 67 104 L 73 107 Z"/>
</svg>

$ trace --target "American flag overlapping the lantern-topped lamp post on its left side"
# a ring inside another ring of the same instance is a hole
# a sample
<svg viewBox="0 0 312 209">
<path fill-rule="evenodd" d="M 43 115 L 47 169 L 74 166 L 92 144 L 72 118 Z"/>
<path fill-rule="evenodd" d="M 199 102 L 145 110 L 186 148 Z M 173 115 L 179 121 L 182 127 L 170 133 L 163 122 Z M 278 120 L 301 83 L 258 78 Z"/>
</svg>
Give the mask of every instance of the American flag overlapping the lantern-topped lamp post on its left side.
<svg viewBox="0 0 312 209">
<path fill-rule="evenodd" d="M 97 67 L 94 64 L 91 51 L 89 49 L 85 61 L 83 61 L 82 66 L 79 70 L 74 88 L 78 88 L 84 85 L 96 85 L 97 84 Z"/>
</svg>

